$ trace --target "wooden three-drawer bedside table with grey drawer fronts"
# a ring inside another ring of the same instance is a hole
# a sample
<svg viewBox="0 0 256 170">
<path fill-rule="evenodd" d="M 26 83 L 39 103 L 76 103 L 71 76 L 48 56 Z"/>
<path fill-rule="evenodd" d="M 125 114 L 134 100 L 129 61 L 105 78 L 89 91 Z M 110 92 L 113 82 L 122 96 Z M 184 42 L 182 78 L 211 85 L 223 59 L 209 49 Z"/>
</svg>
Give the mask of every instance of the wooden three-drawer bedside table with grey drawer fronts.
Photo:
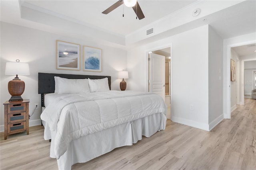
<svg viewBox="0 0 256 170">
<path fill-rule="evenodd" d="M 8 135 L 27 131 L 29 100 L 4 103 L 4 140 Z"/>
</svg>

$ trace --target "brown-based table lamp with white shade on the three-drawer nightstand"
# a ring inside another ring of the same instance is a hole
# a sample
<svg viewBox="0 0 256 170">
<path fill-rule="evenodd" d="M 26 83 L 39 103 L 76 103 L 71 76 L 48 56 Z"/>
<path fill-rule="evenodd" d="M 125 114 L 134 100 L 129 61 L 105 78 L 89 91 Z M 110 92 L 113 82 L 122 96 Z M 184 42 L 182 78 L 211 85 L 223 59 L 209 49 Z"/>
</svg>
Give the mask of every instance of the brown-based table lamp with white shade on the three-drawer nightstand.
<svg viewBox="0 0 256 170">
<path fill-rule="evenodd" d="M 20 63 L 20 60 L 6 62 L 5 75 L 16 75 L 13 80 L 8 82 L 8 91 L 12 96 L 9 102 L 23 100 L 21 95 L 25 90 L 25 83 L 18 78 L 18 74 L 30 75 L 28 63 Z"/>
</svg>

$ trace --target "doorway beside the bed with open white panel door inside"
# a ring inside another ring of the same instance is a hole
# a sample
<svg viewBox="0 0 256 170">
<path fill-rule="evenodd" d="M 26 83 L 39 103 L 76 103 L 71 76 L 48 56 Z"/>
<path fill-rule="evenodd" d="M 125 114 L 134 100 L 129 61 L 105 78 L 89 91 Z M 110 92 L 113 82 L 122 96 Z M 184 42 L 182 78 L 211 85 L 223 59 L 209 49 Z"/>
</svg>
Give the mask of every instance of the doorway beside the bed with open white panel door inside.
<svg viewBox="0 0 256 170">
<path fill-rule="evenodd" d="M 171 118 L 171 47 L 148 52 L 148 92 L 154 92 L 167 105 L 167 119 Z M 157 68 L 158 67 L 158 68 Z"/>
</svg>

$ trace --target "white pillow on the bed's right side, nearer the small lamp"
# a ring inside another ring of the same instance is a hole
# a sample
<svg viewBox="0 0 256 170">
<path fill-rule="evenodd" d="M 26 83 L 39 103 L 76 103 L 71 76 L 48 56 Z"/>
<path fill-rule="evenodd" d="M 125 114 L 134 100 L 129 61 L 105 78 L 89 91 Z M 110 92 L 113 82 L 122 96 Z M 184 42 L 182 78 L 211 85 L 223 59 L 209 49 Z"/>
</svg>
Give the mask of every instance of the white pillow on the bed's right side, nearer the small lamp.
<svg viewBox="0 0 256 170">
<path fill-rule="evenodd" d="M 90 79 L 88 78 L 91 92 L 106 92 L 109 91 L 108 78 Z"/>
</svg>

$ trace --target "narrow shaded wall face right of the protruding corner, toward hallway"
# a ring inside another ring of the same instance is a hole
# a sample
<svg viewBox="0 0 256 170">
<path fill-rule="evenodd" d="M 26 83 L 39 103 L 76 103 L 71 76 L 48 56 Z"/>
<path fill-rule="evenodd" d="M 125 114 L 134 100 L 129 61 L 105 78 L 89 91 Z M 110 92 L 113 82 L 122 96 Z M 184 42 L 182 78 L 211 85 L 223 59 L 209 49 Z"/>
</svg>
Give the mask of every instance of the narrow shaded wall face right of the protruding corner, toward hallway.
<svg viewBox="0 0 256 170">
<path fill-rule="evenodd" d="M 209 26 L 209 129 L 223 119 L 223 39 Z"/>
</svg>

